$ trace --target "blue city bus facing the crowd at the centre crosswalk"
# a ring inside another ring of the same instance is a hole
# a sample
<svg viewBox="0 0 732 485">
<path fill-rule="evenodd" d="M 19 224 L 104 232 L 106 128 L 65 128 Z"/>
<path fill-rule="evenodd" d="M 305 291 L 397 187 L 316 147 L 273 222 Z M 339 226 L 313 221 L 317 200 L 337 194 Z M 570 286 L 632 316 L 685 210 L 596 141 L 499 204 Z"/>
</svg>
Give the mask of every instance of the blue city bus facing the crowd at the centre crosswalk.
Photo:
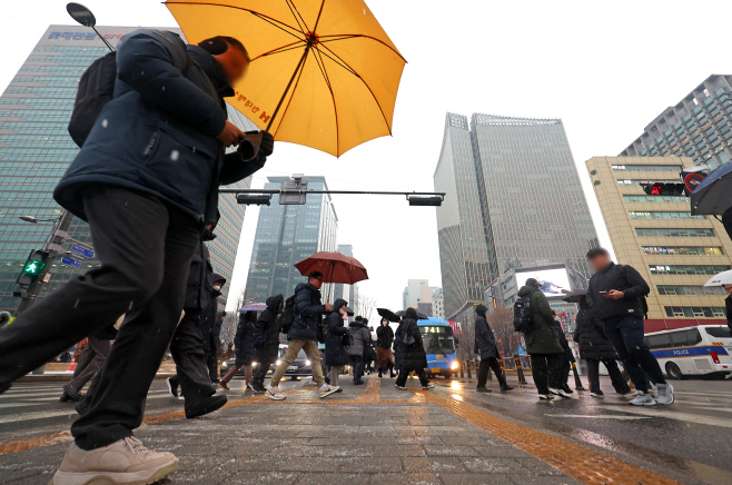
<svg viewBox="0 0 732 485">
<path fill-rule="evenodd" d="M 429 375 L 441 375 L 449 378 L 457 374 L 459 363 L 457 362 L 457 337 L 453 334 L 453 327 L 444 318 L 429 317 L 426 320 L 417 320 L 422 344 L 427 354 L 427 368 Z"/>
</svg>

